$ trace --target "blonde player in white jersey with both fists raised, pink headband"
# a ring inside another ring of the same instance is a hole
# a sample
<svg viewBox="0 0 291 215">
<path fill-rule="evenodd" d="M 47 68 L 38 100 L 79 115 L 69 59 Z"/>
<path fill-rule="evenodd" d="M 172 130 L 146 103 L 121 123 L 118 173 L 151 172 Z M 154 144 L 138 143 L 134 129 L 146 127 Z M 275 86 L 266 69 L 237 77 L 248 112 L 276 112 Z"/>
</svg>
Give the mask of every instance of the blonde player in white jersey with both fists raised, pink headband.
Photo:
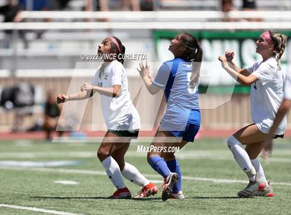
<svg viewBox="0 0 291 215">
<path fill-rule="evenodd" d="M 251 114 L 253 123 L 241 128 L 227 139 L 227 145 L 241 169 L 247 174 L 249 184 L 238 192 L 240 197 L 274 196 L 267 183 L 263 167 L 257 157 L 267 137 L 276 112 L 283 100 L 283 73 L 279 60 L 283 55 L 286 36 L 274 31 L 265 31 L 256 41 L 256 53 L 263 60 L 246 69 L 233 63 L 232 51 L 226 51 L 218 60 L 231 77 L 242 85 L 251 85 Z M 274 138 L 283 137 L 286 119 L 274 131 Z M 245 145 L 245 148 L 243 147 Z"/>
</svg>

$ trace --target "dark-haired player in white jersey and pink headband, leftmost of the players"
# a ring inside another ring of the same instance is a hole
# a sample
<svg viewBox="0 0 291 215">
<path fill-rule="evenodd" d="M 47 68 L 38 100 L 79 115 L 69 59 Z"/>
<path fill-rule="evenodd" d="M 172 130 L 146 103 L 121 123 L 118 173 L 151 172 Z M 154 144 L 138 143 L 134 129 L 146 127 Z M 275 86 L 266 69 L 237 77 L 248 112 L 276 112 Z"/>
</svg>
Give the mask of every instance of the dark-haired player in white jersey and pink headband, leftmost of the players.
<svg viewBox="0 0 291 215">
<path fill-rule="evenodd" d="M 105 38 L 98 46 L 98 55 L 104 62 L 96 71 L 91 85 L 83 84 L 81 92 L 77 94 L 60 94 L 58 103 L 86 99 L 96 92 L 100 94 L 107 132 L 97 155 L 117 188 L 109 198 L 131 198 L 123 177 L 143 187 L 136 195 L 143 198 L 157 193 L 157 187 L 124 160 L 130 141 L 138 136 L 140 128 L 139 113 L 132 104 L 128 91 L 127 74 L 123 67 L 124 53 L 125 46 L 118 38 Z"/>
</svg>

